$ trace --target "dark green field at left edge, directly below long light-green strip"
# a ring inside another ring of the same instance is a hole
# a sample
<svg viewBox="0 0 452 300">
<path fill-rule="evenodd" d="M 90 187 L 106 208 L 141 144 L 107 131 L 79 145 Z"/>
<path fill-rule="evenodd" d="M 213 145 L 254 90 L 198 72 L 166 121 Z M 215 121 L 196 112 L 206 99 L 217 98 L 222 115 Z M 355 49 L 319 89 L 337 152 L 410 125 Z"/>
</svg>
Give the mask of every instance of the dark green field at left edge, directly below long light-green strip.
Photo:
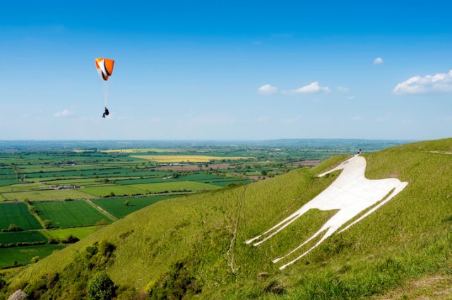
<svg viewBox="0 0 452 300">
<path fill-rule="evenodd" d="M 8 228 L 9 224 L 16 224 L 23 230 L 42 228 L 25 203 L 0 203 L 0 229 Z"/>
</svg>

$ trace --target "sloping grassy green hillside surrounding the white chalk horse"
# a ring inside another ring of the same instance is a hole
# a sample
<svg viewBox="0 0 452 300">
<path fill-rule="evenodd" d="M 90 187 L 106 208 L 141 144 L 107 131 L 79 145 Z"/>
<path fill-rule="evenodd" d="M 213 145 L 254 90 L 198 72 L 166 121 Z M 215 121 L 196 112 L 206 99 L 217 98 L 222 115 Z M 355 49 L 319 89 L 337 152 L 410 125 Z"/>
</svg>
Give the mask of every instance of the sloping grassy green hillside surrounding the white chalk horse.
<svg viewBox="0 0 452 300">
<path fill-rule="evenodd" d="M 323 191 L 338 172 L 315 175 L 345 157 L 249 186 L 155 203 L 16 275 L 8 272 L 1 295 L 22 288 L 42 298 L 76 299 L 100 270 L 117 285 L 119 299 L 140 292 L 150 299 L 356 299 L 423 277 L 450 278 L 450 152 L 452 139 L 364 155 L 369 179 L 395 176 L 408 181 L 407 188 L 283 271 L 271 260 L 316 232 L 333 211 L 313 210 L 257 248 L 244 241 Z M 107 242 L 114 250 L 105 251 Z"/>
</svg>

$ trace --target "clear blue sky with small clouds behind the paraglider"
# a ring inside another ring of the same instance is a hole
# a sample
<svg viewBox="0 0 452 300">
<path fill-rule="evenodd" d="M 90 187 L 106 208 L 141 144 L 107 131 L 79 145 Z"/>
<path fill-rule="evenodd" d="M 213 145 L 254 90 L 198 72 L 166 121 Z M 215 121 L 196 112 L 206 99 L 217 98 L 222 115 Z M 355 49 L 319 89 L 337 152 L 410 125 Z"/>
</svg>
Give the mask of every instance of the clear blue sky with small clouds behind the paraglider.
<svg viewBox="0 0 452 300">
<path fill-rule="evenodd" d="M 451 1 L 40 2 L 1 4 L 0 139 L 452 136 Z"/>
</svg>

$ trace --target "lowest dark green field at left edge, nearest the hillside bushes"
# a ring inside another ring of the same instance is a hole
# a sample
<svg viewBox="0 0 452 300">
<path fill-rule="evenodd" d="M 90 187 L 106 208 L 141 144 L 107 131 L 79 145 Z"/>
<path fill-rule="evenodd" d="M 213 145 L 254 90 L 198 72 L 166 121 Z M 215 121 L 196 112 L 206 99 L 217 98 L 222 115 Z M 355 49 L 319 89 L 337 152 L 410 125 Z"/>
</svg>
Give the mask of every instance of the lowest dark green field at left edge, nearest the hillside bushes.
<svg viewBox="0 0 452 300">
<path fill-rule="evenodd" d="M 0 268 L 11 267 L 16 261 L 18 264 L 30 263 L 35 256 L 44 258 L 49 256 L 55 250 L 64 246 L 61 245 L 39 245 L 13 248 L 0 248 Z"/>
</svg>

